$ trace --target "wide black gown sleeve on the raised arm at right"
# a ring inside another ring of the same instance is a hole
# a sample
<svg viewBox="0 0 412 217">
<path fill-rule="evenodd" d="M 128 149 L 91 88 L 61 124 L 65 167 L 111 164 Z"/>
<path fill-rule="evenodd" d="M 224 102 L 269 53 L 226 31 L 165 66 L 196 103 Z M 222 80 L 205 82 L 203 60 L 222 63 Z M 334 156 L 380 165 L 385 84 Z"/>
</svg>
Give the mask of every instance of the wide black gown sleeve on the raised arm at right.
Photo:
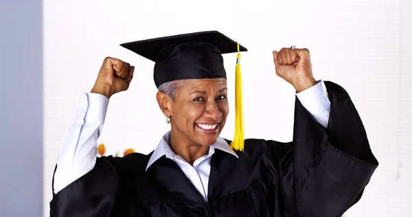
<svg viewBox="0 0 412 217">
<path fill-rule="evenodd" d="M 359 201 L 378 166 L 350 96 L 333 82 L 325 87 L 331 103 L 328 127 L 296 100 L 291 148 L 268 145 L 282 216 L 342 216 Z"/>
</svg>

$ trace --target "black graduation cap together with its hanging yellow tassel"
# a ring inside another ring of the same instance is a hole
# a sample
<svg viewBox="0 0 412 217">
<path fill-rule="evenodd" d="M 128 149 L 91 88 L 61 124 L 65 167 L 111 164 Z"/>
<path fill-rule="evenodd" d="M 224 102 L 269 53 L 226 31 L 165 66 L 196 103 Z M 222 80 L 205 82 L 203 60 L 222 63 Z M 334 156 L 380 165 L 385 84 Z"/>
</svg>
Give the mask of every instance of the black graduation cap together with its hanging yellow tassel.
<svg viewBox="0 0 412 217">
<path fill-rule="evenodd" d="M 155 62 L 156 87 L 185 79 L 227 78 L 222 54 L 238 52 L 235 82 L 235 136 L 231 148 L 243 150 L 244 127 L 240 52 L 247 49 L 218 31 L 194 32 L 121 45 Z"/>
</svg>

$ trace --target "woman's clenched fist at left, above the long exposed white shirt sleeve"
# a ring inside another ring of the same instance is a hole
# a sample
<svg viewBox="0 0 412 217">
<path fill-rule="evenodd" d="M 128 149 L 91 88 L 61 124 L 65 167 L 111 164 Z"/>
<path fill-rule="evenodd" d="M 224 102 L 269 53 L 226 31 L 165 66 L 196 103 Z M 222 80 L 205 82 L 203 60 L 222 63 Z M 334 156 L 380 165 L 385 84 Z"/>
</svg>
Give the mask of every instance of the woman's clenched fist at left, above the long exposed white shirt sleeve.
<svg viewBox="0 0 412 217">
<path fill-rule="evenodd" d="M 117 58 L 104 58 L 91 93 L 100 93 L 110 99 L 113 94 L 126 91 L 134 71 L 135 67 L 130 66 L 127 62 Z"/>
</svg>

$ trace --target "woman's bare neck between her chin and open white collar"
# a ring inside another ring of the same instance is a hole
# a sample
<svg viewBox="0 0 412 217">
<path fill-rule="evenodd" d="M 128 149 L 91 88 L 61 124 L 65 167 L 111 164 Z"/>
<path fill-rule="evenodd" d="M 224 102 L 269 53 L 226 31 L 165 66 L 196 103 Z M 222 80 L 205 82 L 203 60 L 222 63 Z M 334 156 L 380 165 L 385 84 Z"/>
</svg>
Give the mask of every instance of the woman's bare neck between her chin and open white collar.
<svg viewBox="0 0 412 217">
<path fill-rule="evenodd" d="M 187 139 L 182 139 L 176 134 L 176 132 L 170 132 L 169 146 L 172 148 L 176 155 L 179 155 L 187 163 L 193 165 L 194 161 L 203 157 L 209 153 L 209 146 L 201 146 L 199 144 L 193 144 L 187 141 Z"/>
</svg>

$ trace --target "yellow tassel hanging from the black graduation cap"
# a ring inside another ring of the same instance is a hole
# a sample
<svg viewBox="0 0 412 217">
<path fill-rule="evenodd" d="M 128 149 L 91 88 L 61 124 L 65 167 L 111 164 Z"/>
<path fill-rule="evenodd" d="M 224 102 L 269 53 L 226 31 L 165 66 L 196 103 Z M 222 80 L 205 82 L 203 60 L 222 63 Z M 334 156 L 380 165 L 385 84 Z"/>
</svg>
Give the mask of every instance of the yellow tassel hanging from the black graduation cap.
<svg viewBox="0 0 412 217">
<path fill-rule="evenodd" d="M 235 135 L 230 147 L 234 150 L 244 150 L 244 123 L 242 106 L 242 75 L 240 73 L 240 50 L 238 43 L 238 55 L 236 56 L 235 74 Z"/>
</svg>

